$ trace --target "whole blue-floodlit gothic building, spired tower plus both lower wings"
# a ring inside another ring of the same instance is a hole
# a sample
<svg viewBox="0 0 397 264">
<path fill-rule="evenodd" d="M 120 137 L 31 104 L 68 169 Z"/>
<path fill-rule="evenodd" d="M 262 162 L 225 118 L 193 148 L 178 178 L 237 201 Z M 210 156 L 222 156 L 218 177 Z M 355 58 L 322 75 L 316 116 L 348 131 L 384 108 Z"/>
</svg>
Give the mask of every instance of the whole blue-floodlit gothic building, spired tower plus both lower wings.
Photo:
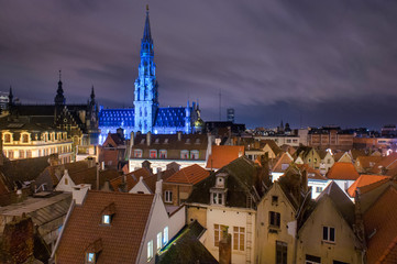
<svg viewBox="0 0 397 264">
<path fill-rule="evenodd" d="M 130 138 L 132 131 L 155 134 L 173 134 L 177 131 L 194 133 L 201 129 L 199 106 L 187 102 L 186 107 L 159 108 L 158 82 L 156 80 L 156 64 L 154 63 L 153 38 L 146 10 L 146 20 L 141 41 L 141 63 L 135 80 L 134 107 L 124 109 L 103 109 L 99 111 L 99 143 L 102 144 L 108 133 L 117 129 L 124 130 L 124 136 Z"/>
</svg>

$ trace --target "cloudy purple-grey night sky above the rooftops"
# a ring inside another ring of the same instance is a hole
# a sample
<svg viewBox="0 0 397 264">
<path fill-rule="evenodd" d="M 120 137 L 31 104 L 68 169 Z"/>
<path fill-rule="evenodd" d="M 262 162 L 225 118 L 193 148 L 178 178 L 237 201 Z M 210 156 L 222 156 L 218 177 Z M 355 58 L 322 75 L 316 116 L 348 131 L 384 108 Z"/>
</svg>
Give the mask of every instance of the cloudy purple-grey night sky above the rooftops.
<svg viewBox="0 0 397 264">
<path fill-rule="evenodd" d="M 0 90 L 131 107 L 146 1 L 0 0 Z M 397 123 L 397 1 L 151 0 L 161 106 L 249 128 Z"/>
</svg>

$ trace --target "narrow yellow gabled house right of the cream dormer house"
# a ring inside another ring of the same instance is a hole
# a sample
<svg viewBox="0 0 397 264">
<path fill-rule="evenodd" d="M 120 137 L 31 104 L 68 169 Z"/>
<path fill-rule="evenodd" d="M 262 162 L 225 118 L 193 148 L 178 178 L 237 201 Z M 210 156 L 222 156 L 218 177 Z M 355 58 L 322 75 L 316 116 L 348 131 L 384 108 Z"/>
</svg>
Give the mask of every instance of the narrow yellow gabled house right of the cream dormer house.
<svg viewBox="0 0 397 264">
<path fill-rule="evenodd" d="M 290 166 L 257 205 L 253 263 L 294 263 L 297 230 L 310 205 L 306 174 Z"/>
</svg>

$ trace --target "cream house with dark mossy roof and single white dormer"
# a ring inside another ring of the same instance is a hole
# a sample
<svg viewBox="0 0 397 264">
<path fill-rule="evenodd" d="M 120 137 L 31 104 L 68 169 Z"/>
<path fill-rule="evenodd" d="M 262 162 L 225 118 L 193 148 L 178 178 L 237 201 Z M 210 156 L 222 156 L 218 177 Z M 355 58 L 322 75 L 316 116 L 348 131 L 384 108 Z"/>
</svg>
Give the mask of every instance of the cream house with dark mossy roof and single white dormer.
<svg viewBox="0 0 397 264">
<path fill-rule="evenodd" d="M 188 222 L 207 229 L 203 245 L 218 260 L 222 230 L 232 235 L 232 263 L 253 263 L 256 206 L 271 184 L 267 161 L 239 157 L 194 186 L 186 201 Z"/>
</svg>

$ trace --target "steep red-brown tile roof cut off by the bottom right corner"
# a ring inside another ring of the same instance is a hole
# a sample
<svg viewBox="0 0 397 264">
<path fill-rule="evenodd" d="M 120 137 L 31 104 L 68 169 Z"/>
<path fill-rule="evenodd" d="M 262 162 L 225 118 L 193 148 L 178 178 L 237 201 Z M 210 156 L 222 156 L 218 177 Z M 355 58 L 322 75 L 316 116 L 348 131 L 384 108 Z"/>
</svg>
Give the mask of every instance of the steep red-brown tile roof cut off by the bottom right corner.
<svg viewBox="0 0 397 264">
<path fill-rule="evenodd" d="M 367 263 L 395 263 L 397 255 L 397 190 L 390 186 L 364 213 Z M 389 260 L 390 262 L 386 262 Z"/>
</svg>

